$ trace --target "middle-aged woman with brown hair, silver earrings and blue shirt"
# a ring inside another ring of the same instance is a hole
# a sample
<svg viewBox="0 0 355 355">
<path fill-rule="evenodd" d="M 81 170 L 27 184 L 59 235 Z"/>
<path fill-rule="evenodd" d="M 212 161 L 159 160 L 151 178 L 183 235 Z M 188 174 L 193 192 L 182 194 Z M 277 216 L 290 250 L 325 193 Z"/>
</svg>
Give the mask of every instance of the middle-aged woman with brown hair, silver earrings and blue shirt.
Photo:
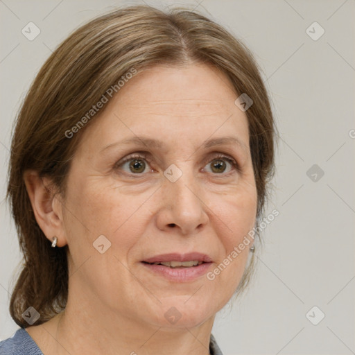
<svg viewBox="0 0 355 355">
<path fill-rule="evenodd" d="M 82 26 L 17 119 L 8 198 L 24 252 L 1 354 L 221 354 L 274 164 L 248 49 L 188 10 Z"/>
</svg>

